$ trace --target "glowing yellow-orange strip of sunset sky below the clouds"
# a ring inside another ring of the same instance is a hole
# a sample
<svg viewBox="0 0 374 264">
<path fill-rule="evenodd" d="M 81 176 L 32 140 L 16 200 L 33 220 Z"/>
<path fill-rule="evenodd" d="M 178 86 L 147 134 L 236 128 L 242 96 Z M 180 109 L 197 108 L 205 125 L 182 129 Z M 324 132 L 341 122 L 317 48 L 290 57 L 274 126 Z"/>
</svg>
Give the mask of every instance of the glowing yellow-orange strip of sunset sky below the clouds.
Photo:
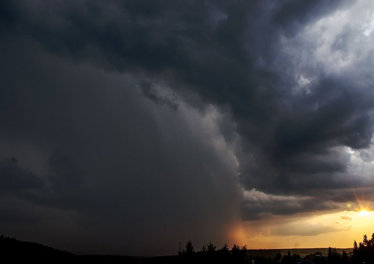
<svg viewBox="0 0 374 264">
<path fill-rule="evenodd" d="M 243 222 L 233 240 L 252 248 L 351 248 L 374 232 L 374 211 L 339 211 L 299 217 Z"/>
</svg>

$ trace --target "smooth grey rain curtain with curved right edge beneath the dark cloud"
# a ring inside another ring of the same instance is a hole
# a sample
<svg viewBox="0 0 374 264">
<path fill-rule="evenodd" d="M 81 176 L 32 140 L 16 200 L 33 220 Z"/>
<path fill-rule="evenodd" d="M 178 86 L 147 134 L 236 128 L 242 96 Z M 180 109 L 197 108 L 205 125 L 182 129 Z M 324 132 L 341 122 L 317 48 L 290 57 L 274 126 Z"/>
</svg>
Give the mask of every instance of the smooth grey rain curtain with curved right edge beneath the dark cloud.
<svg viewBox="0 0 374 264">
<path fill-rule="evenodd" d="M 47 55 L 32 40 L 1 48 L 1 219 L 9 235 L 39 232 L 31 239 L 107 254 L 174 254 L 179 240 L 227 239 L 240 195 L 209 113 L 154 104 L 141 96 L 141 81 Z M 12 219 L 34 221 L 33 230 Z"/>
</svg>

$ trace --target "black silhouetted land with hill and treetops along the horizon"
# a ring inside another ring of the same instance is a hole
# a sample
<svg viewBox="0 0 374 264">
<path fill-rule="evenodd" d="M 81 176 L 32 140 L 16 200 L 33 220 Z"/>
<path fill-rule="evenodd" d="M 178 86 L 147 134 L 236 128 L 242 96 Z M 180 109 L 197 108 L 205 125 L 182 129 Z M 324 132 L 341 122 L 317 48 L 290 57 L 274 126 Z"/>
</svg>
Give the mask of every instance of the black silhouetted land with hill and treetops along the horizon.
<svg viewBox="0 0 374 264">
<path fill-rule="evenodd" d="M 294 249 L 295 250 L 295 249 Z M 275 252 L 273 250 L 263 250 Z M 129 256 L 102 256 L 102 255 L 74 255 L 67 251 L 61 251 L 36 242 L 24 242 L 4 235 L 0 236 L 1 257 L 12 257 L 13 260 L 27 259 L 39 260 L 50 263 L 97 262 L 100 263 L 208 263 L 208 264 L 373 264 L 374 263 L 374 233 L 371 239 L 364 235 L 362 242 L 353 242 L 353 248 L 349 251 L 339 252 L 336 248 L 329 247 L 326 252 L 316 251 L 310 254 L 278 253 L 274 257 L 264 257 L 253 253 L 247 246 L 233 245 L 231 248 L 225 243 L 222 248 L 209 242 L 203 245 L 200 251 L 195 251 L 189 240 L 184 249 L 177 255 L 162 257 L 129 257 Z M 323 254 L 325 253 L 325 254 Z"/>
</svg>

